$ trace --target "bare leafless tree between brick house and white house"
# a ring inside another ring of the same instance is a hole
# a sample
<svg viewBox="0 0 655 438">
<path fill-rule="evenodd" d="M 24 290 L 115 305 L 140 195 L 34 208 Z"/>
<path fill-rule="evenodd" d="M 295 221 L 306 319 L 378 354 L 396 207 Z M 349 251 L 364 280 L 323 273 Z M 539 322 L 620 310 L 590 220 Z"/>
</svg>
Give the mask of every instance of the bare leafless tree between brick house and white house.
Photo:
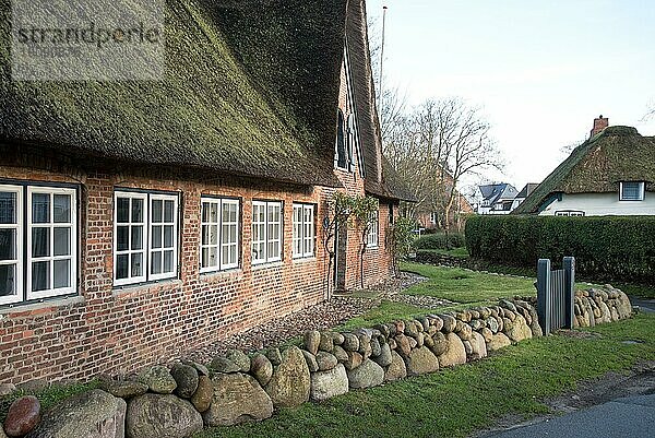
<svg viewBox="0 0 655 438">
<path fill-rule="evenodd" d="M 446 230 L 462 203 L 462 178 L 502 165 L 489 123 L 461 98 L 425 100 L 388 128 L 385 155 L 413 189 L 416 210 L 438 212 Z"/>
</svg>

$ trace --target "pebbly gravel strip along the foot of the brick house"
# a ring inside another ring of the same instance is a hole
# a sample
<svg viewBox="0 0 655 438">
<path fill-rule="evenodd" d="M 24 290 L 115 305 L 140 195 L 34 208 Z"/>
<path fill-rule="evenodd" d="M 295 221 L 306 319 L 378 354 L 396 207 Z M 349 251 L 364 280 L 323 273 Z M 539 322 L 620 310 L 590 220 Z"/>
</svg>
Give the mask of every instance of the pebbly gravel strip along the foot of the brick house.
<svg viewBox="0 0 655 438">
<path fill-rule="evenodd" d="M 242 333 L 234 334 L 223 341 L 212 343 L 192 352 L 186 355 L 184 358 L 204 364 L 210 362 L 214 356 L 224 354 L 230 348 L 253 352 L 281 345 L 289 340 L 302 336 L 308 330 L 332 329 L 378 307 L 382 299 L 404 303 L 407 298 L 417 298 L 408 295 L 400 295 L 398 292 L 426 280 L 420 275 L 403 272 L 397 279 L 392 279 L 366 291 L 378 292 L 379 294 L 376 298 L 357 298 L 347 295 L 333 296 L 330 301 L 319 303 L 300 311 L 257 325 Z M 430 299 L 431 297 L 425 298 Z M 421 307 L 434 307 L 434 305 L 430 304 L 429 306 Z"/>
</svg>

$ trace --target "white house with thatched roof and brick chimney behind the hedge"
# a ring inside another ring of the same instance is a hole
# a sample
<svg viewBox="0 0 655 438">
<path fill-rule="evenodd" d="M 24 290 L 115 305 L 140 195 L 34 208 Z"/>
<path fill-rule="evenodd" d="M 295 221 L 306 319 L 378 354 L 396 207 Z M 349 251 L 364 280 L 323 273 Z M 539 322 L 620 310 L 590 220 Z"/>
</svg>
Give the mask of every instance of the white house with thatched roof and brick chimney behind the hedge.
<svg viewBox="0 0 655 438">
<path fill-rule="evenodd" d="M 556 216 L 655 215 L 655 137 L 594 120 L 591 137 L 514 211 Z"/>
</svg>

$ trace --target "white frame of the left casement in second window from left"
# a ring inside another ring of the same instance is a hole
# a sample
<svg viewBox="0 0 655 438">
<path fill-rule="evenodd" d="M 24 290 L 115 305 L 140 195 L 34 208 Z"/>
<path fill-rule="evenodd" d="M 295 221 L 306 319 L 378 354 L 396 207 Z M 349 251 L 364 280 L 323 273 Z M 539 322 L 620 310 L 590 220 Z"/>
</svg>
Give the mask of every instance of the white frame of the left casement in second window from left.
<svg viewBox="0 0 655 438">
<path fill-rule="evenodd" d="M 130 209 L 128 211 L 129 222 L 118 223 L 118 198 L 129 199 L 130 200 Z M 138 199 L 143 201 L 143 212 L 142 212 L 142 222 L 132 222 L 132 200 Z M 114 192 L 114 285 L 122 286 L 126 284 L 134 284 L 134 283 L 143 283 L 147 281 L 147 271 L 148 271 L 148 235 L 150 235 L 150 224 L 148 224 L 148 200 L 147 193 L 144 192 L 135 192 L 135 191 L 119 191 L 116 190 Z M 128 249 L 119 251 L 118 250 L 118 226 L 128 226 Z M 132 249 L 132 226 L 142 226 L 142 235 L 141 235 L 141 249 L 133 250 Z M 139 276 L 130 276 L 132 273 L 132 254 L 141 253 L 143 259 L 141 260 L 143 267 L 143 275 Z M 117 279 L 118 274 L 118 256 L 128 254 L 128 277 L 127 279 Z"/>
</svg>

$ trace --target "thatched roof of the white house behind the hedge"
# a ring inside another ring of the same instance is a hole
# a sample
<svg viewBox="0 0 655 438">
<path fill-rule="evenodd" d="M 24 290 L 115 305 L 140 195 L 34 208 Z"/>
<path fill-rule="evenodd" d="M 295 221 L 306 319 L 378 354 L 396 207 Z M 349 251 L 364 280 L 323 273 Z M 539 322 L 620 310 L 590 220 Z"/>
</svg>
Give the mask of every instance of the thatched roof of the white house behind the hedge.
<svg viewBox="0 0 655 438">
<path fill-rule="evenodd" d="M 654 137 L 606 128 L 575 147 L 513 213 L 537 213 L 556 193 L 618 193 L 620 181 L 646 181 L 646 190 L 655 190 Z"/>
</svg>

